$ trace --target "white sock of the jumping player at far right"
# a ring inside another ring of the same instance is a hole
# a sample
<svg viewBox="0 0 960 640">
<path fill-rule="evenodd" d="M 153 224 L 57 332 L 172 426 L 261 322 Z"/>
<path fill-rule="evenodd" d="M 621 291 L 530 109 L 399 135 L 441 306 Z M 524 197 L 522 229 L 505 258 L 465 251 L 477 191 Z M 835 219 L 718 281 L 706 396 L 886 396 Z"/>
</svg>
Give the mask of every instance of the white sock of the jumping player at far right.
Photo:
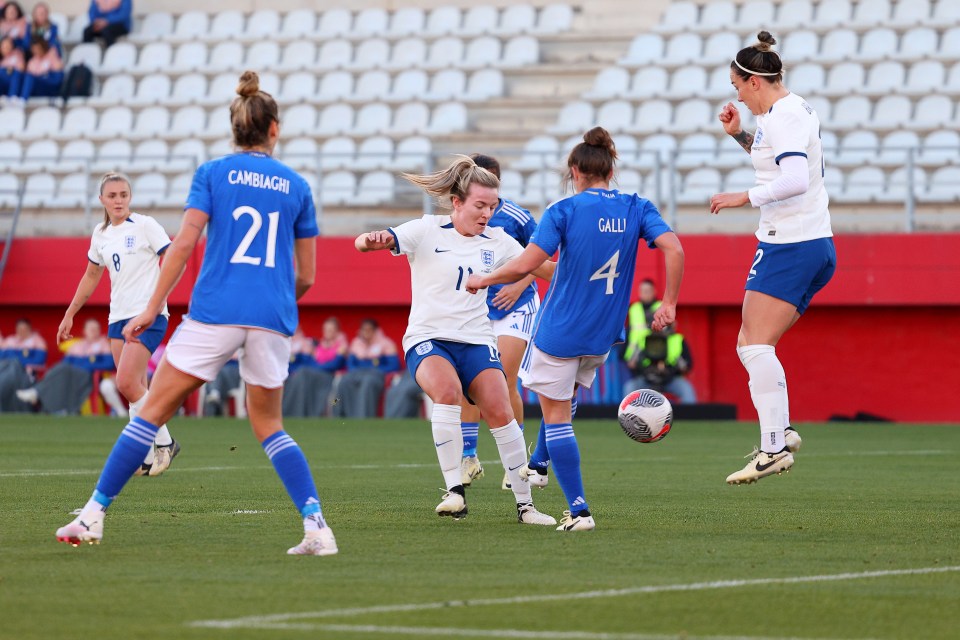
<svg viewBox="0 0 960 640">
<path fill-rule="evenodd" d="M 788 424 L 787 376 L 769 344 L 737 348 L 740 362 L 750 374 L 750 397 L 760 419 L 760 450 L 778 453 L 787 446 L 783 430 Z"/>
</svg>

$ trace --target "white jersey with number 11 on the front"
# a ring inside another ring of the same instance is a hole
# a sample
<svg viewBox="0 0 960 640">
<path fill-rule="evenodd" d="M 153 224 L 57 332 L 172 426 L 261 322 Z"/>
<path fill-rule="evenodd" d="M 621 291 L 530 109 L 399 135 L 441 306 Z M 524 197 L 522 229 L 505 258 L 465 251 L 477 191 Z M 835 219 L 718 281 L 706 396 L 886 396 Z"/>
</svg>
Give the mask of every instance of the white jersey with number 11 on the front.
<svg viewBox="0 0 960 640">
<path fill-rule="evenodd" d="M 431 219 L 433 218 L 433 219 Z M 394 255 L 410 261 L 413 300 L 403 335 L 403 350 L 424 340 L 450 340 L 496 348 L 487 317 L 487 297 L 467 293 L 467 278 L 490 273 L 523 252 L 503 229 L 487 227 L 467 237 L 453 223 L 425 216 L 389 229 L 396 239 Z"/>
</svg>

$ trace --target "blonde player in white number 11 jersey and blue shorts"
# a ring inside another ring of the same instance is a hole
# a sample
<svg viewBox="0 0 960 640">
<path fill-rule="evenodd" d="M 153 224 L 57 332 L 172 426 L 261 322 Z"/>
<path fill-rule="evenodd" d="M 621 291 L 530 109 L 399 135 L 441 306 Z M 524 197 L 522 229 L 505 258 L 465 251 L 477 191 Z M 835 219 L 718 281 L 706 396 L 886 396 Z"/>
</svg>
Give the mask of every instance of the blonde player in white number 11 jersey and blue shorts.
<svg viewBox="0 0 960 640">
<path fill-rule="evenodd" d="M 500 181 L 466 156 L 458 156 L 444 171 L 403 177 L 452 208 L 448 221 L 412 220 L 364 233 L 355 246 L 361 252 L 389 250 L 410 263 L 413 299 L 403 349 L 410 375 L 434 403 L 433 444 L 446 485 L 436 513 L 456 519 L 467 514 L 460 477 L 460 403 L 466 397 L 490 426 L 516 500 L 517 520 L 555 525 L 554 518 L 534 507 L 530 484 L 520 476 L 527 451 L 510 405 L 486 298 L 471 295 L 466 287 L 471 274 L 489 273 L 523 251 L 503 229 L 487 226 L 500 203 Z M 554 266 L 547 262 L 536 275 L 549 279 Z"/>
</svg>

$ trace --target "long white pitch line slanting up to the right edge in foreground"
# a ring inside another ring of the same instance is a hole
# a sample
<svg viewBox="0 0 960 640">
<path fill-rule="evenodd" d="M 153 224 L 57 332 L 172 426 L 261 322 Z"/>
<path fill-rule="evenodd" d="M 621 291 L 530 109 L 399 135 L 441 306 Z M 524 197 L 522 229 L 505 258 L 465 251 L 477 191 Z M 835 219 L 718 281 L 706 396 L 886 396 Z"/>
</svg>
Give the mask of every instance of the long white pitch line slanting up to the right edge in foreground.
<svg viewBox="0 0 960 640">
<path fill-rule="evenodd" d="M 754 578 L 748 580 L 715 580 L 711 582 L 692 582 L 687 584 L 648 585 L 625 589 L 603 589 L 580 591 L 575 593 L 547 593 L 511 598 L 478 598 L 476 600 L 448 600 L 442 602 L 422 602 L 412 604 L 379 605 L 375 607 L 354 607 L 348 609 L 325 609 L 300 613 L 277 613 L 265 616 L 247 616 L 230 620 L 197 620 L 189 623 L 191 627 L 215 629 L 234 629 L 283 623 L 290 620 L 311 618 L 347 618 L 378 613 L 404 613 L 410 611 L 429 611 L 456 607 L 479 607 L 493 605 L 526 604 L 530 602 L 557 602 L 564 600 L 591 600 L 596 598 L 619 598 L 643 593 L 667 593 L 683 591 L 706 591 L 710 589 L 734 589 L 771 584 L 804 584 L 811 582 L 837 582 L 842 580 L 862 580 L 865 578 L 883 578 L 890 576 L 926 575 L 960 571 L 960 566 L 922 567 L 918 569 L 886 569 L 881 571 L 863 571 L 860 573 L 834 573 L 815 576 L 795 576 L 792 578 Z"/>
</svg>

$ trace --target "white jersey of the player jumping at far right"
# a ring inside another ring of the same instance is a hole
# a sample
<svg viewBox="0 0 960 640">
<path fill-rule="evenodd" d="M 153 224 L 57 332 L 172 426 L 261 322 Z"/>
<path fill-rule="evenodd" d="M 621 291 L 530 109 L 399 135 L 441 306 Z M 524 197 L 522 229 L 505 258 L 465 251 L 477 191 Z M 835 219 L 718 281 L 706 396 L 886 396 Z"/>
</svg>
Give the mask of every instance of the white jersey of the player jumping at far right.
<svg viewBox="0 0 960 640">
<path fill-rule="evenodd" d="M 786 156 L 807 159 L 810 183 L 798 196 L 760 207 L 757 238 L 771 244 L 829 238 L 829 198 L 823 184 L 823 147 L 820 119 L 800 96 L 791 93 L 777 100 L 770 111 L 757 116 L 757 131 L 750 159 L 757 172 L 757 184 L 773 182 L 780 176 L 780 160 Z"/>
</svg>

